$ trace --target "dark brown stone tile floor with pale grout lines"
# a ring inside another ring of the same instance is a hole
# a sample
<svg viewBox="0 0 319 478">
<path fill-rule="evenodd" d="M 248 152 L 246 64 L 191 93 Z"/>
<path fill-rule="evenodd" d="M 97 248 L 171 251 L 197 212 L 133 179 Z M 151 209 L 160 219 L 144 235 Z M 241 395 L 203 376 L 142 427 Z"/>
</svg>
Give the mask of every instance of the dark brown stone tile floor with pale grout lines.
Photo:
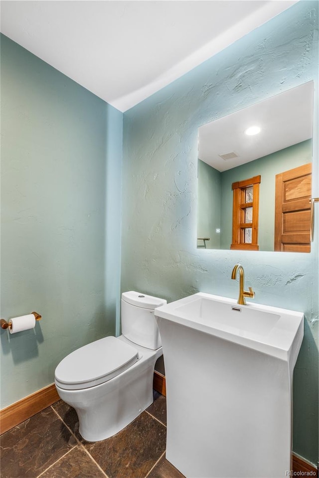
<svg viewBox="0 0 319 478">
<path fill-rule="evenodd" d="M 1 435 L 1 478 L 183 478 L 166 459 L 166 400 L 114 437 L 86 442 L 62 400 Z"/>
</svg>

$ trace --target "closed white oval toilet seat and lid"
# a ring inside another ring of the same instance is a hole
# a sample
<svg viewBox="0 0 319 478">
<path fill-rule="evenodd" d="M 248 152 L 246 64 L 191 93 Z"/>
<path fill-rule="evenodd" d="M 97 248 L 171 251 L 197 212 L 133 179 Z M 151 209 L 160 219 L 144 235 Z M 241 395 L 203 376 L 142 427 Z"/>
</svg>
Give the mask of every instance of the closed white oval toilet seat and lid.
<svg viewBox="0 0 319 478">
<path fill-rule="evenodd" d="M 139 358 L 133 346 L 104 337 L 67 355 L 55 369 L 55 383 L 65 390 L 93 387 L 124 372 Z"/>
</svg>

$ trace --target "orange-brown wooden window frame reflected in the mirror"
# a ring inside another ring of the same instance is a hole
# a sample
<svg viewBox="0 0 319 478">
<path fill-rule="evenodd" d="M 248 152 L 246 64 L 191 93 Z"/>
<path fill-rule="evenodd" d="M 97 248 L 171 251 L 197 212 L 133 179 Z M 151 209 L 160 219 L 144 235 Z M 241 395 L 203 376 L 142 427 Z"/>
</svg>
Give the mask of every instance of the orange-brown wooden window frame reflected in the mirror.
<svg viewBox="0 0 319 478">
<path fill-rule="evenodd" d="M 233 190 L 233 235 L 230 249 L 247 251 L 259 251 L 258 245 L 258 218 L 259 218 L 259 184 L 261 176 L 250 177 L 243 181 L 232 183 Z M 245 190 L 253 187 L 253 202 L 245 202 Z M 245 223 L 245 209 L 253 208 L 253 219 L 251 223 Z M 252 242 L 245 243 L 245 228 L 252 228 Z"/>
</svg>

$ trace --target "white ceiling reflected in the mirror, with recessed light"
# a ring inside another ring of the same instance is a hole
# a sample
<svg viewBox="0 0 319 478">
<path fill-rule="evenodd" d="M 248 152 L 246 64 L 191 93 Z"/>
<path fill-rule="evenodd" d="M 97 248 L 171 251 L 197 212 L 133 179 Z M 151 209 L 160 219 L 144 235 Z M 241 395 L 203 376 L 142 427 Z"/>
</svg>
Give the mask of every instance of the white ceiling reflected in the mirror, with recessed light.
<svg viewBox="0 0 319 478">
<path fill-rule="evenodd" d="M 267 100 L 198 128 L 198 158 L 226 171 L 313 137 L 314 83 L 280 93 Z M 256 136 L 245 135 L 259 126 Z M 235 153 L 235 159 L 220 156 Z"/>
</svg>

